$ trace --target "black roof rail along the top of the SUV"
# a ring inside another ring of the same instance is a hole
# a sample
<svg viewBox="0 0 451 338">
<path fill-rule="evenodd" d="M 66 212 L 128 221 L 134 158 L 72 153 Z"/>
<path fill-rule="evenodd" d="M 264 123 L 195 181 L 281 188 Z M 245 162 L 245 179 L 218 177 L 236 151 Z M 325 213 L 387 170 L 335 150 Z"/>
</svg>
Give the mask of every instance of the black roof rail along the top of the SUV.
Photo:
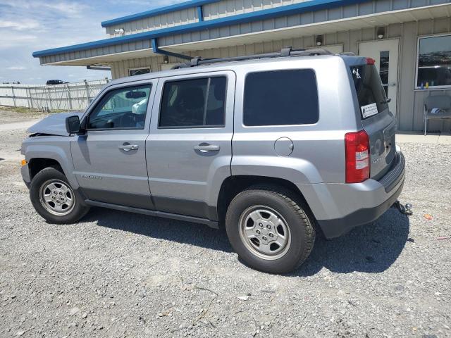
<svg viewBox="0 0 451 338">
<path fill-rule="evenodd" d="M 286 46 L 280 51 L 274 53 L 254 54 L 245 56 L 232 56 L 230 58 L 202 58 L 197 56 L 191 59 L 189 63 L 180 63 L 174 65 L 174 68 L 187 68 L 195 67 L 197 65 L 207 65 L 210 63 L 227 62 L 227 61 L 245 61 L 257 58 L 280 58 L 286 56 L 314 56 L 314 55 L 332 55 L 330 51 L 326 49 L 292 49 L 291 46 Z"/>
</svg>

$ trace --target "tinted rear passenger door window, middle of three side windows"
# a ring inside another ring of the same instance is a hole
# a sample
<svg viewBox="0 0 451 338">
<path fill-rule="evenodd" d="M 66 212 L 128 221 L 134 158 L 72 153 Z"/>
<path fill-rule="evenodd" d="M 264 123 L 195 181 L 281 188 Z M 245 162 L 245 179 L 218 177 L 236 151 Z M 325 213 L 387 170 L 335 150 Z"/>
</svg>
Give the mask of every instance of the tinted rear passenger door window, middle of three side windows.
<svg viewBox="0 0 451 338">
<path fill-rule="evenodd" d="M 159 126 L 223 126 L 226 82 L 226 77 L 166 82 Z"/>
</svg>

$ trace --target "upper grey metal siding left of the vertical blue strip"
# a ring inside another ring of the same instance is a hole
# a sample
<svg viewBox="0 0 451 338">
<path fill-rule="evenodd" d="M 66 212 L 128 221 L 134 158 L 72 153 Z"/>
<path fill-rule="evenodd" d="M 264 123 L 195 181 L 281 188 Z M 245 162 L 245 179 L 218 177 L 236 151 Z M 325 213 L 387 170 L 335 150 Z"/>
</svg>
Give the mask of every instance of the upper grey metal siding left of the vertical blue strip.
<svg viewBox="0 0 451 338">
<path fill-rule="evenodd" d="M 197 23 L 199 18 L 197 17 L 196 8 L 187 8 L 182 11 L 175 11 L 163 15 L 156 15 L 150 18 L 144 18 L 140 20 L 131 21 L 130 23 L 120 23 L 106 27 L 106 34 L 111 37 L 120 36 L 114 33 L 114 30 L 123 28 L 125 35 L 147 32 L 150 30 L 159 30 L 161 28 L 174 27 L 180 25 L 187 25 L 188 23 Z"/>
</svg>

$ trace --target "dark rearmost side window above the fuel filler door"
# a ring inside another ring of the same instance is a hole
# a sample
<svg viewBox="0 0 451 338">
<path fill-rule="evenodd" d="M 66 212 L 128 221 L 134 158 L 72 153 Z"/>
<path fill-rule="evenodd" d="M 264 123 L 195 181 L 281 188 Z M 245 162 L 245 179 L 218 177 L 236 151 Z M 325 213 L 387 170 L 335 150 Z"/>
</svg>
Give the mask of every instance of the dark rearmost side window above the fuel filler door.
<svg viewBox="0 0 451 338">
<path fill-rule="evenodd" d="M 314 70 L 249 73 L 245 81 L 243 123 L 247 126 L 307 125 L 318 122 Z"/>
</svg>

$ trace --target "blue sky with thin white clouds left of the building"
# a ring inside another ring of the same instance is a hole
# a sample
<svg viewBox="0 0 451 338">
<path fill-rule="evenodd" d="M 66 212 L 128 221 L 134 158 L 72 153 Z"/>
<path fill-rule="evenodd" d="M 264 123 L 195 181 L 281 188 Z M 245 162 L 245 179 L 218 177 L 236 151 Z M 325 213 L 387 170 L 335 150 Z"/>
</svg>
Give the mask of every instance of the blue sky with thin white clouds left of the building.
<svg viewBox="0 0 451 338">
<path fill-rule="evenodd" d="M 0 0 L 0 83 L 111 77 L 85 67 L 39 65 L 33 51 L 105 39 L 100 23 L 185 0 Z"/>
</svg>

